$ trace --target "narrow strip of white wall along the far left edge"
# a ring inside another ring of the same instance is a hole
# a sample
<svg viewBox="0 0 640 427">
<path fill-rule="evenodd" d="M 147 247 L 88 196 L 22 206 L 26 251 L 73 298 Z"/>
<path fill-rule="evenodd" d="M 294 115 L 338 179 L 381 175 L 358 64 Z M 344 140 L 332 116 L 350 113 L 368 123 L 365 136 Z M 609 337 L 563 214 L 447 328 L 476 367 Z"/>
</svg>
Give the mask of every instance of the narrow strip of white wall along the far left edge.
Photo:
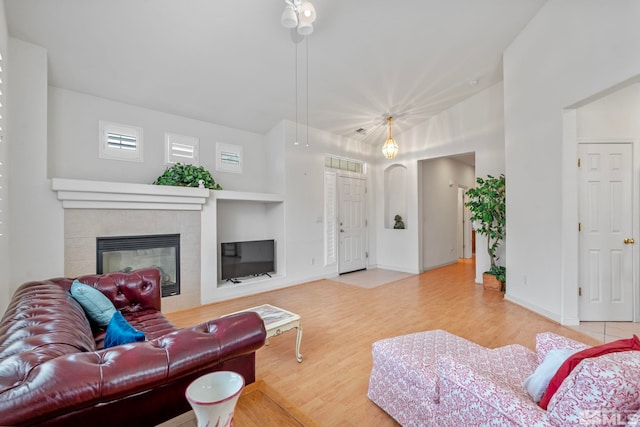
<svg viewBox="0 0 640 427">
<path fill-rule="evenodd" d="M 9 62 L 8 56 L 8 45 L 9 45 L 9 36 L 7 34 L 7 20 L 5 17 L 4 11 L 4 0 L 0 0 L 0 54 L 2 55 L 2 67 L 3 74 L 2 78 L 4 81 L 4 96 L 2 97 L 2 104 L 4 105 L 4 111 L 2 111 L 3 119 L 0 120 L 2 123 L 3 131 L 0 132 L 0 136 L 2 139 L 0 140 L 0 313 L 4 313 L 7 305 L 9 304 L 9 299 L 11 298 L 11 252 L 9 251 L 9 232 L 10 222 L 9 222 L 9 191 L 8 191 L 8 182 L 9 182 L 9 138 L 5 135 L 7 134 L 6 128 L 8 125 L 7 120 L 7 112 L 9 111 L 8 104 L 8 96 L 6 95 L 6 88 L 8 87 L 7 80 L 7 65 Z"/>
</svg>

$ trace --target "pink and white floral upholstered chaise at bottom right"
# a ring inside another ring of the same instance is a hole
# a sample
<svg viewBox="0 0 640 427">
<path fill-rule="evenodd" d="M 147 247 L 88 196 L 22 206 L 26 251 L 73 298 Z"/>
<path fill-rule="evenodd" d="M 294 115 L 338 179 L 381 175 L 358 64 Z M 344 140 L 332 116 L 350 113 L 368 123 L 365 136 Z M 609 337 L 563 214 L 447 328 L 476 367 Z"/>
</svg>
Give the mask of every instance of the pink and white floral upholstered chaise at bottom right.
<svg viewBox="0 0 640 427">
<path fill-rule="evenodd" d="M 367 395 L 403 426 L 640 425 L 637 351 L 585 359 L 546 411 L 534 402 L 523 383 L 547 353 L 585 348 L 550 332 L 536 336 L 536 352 L 488 349 L 442 330 L 387 338 L 373 344 Z"/>
</svg>

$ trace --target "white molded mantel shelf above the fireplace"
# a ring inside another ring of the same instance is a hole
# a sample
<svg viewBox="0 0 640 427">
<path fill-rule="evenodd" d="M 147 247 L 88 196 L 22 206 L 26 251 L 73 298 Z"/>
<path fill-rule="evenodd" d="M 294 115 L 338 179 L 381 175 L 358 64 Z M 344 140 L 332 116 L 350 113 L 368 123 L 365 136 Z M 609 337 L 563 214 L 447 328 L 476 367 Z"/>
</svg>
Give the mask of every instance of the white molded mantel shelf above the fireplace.
<svg viewBox="0 0 640 427">
<path fill-rule="evenodd" d="M 202 210 L 211 192 L 206 188 L 53 178 L 64 209 Z"/>
</svg>

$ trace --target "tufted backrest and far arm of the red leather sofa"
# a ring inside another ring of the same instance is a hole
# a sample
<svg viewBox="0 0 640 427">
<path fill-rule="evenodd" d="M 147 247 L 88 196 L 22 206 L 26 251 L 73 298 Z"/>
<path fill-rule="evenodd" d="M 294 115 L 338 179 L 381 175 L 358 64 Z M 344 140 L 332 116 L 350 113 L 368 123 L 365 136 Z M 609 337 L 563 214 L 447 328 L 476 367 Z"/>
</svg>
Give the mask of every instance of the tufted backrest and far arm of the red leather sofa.
<svg viewBox="0 0 640 427">
<path fill-rule="evenodd" d="M 78 280 L 102 291 L 125 315 L 160 311 L 157 269 Z M 104 331 L 92 331 L 84 310 L 69 293 L 71 283 L 69 278 L 51 279 L 25 283 L 16 290 L 0 322 L 0 398 L 10 389 L 17 391 L 45 362 L 102 347 Z M 163 324 L 160 332 L 175 329 Z"/>
</svg>

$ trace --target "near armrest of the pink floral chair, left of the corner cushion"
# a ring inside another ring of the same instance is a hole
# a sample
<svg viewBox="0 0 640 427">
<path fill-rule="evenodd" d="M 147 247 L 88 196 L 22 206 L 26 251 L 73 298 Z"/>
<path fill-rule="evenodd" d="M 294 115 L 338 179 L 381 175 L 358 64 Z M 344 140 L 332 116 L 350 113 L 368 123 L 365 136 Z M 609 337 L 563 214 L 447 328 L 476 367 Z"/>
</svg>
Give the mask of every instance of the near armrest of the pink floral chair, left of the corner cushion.
<svg viewBox="0 0 640 427">
<path fill-rule="evenodd" d="M 504 377 L 492 373 L 489 367 L 481 369 L 453 357 L 442 356 L 438 359 L 437 372 L 441 388 L 451 387 L 456 391 L 441 391 L 440 404 L 443 405 L 443 411 L 449 408 L 464 411 L 465 407 L 470 411 L 477 411 L 478 408 L 471 405 L 471 401 L 476 401 L 482 403 L 484 412 L 489 417 L 487 419 L 506 419 L 519 426 L 549 425 L 546 412 L 533 402 L 524 388 L 514 390 L 514 384 L 505 382 Z M 464 419 L 464 415 L 460 417 Z M 472 422 L 473 415 L 466 421 Z"/>
</svg>

